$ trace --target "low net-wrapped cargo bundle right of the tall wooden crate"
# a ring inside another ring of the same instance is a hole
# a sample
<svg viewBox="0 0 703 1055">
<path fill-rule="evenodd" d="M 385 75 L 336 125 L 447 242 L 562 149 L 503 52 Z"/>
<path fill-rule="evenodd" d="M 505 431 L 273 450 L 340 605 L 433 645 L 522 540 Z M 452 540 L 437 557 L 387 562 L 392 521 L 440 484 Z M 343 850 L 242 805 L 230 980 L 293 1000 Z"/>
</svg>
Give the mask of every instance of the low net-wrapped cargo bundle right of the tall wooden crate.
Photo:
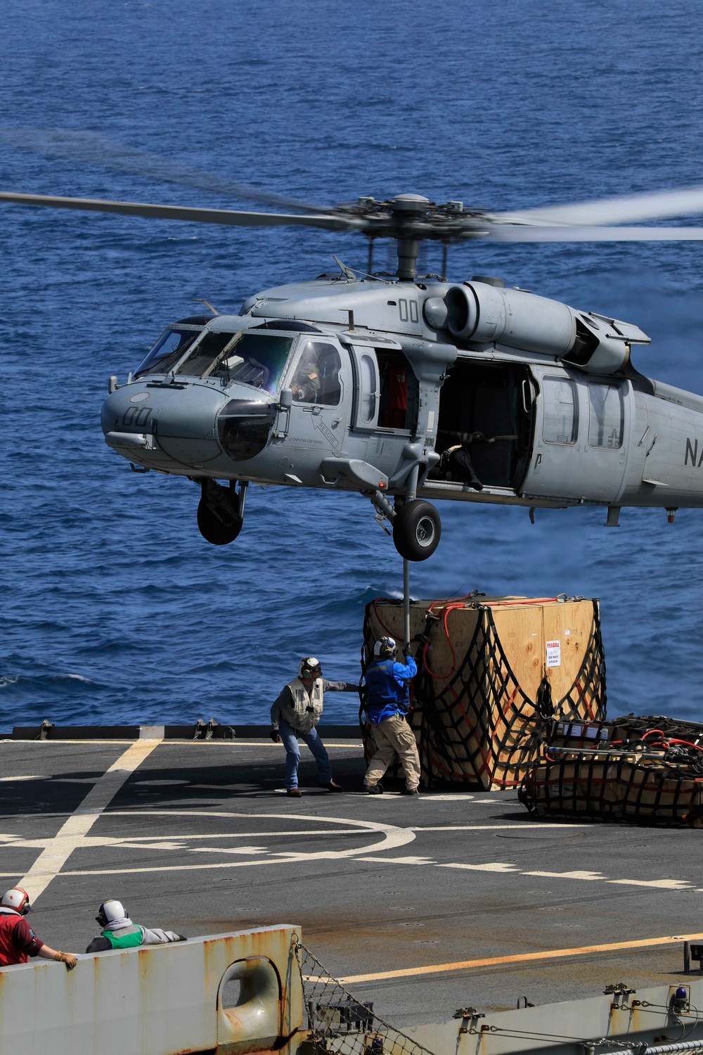
<svg viewBox="0 0 703 1055">
<path fill-rule="evenodd" d="M 558 727 L 519 792 L 531 813 L 703 827 L 702 725 L 628 714 L 590 732 Z"/>
</svg>

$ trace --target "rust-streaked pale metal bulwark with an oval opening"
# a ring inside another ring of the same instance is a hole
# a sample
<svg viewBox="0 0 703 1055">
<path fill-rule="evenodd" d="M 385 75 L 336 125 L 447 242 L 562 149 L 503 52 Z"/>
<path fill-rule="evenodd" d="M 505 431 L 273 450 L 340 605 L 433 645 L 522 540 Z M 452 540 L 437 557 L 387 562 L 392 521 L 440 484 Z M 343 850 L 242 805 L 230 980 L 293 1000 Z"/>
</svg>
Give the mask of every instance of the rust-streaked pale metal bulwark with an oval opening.
<svg viewBox="0 0 703 1055">
<path fill-rule="evenodd" d="M 291 925 L 0 970 L 0 1055 L 295 1055 L 302 991 Z M 228 980 L 236 1006 L 222 1006 Z"/>
</svg>

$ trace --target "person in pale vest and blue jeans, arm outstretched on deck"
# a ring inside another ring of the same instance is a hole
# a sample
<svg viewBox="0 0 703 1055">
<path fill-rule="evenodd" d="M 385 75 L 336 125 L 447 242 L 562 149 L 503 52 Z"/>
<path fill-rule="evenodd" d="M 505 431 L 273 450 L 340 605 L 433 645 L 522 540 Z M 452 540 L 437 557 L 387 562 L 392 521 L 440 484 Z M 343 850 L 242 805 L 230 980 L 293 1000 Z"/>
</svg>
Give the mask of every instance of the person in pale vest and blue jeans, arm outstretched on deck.
<svg viewBox="0 0 703 1055">
<path fill-rule="evenodd" d="M 317 763 L 319 786 L 328 791 L 343 791 L 332 780 L 332 766 L 327 749 L 315 726 L 323 713 L 325 692 L 358 692 L 350 682 L 328 682 L 323 677 L 319 659 L 306 656 L 298 666 L 298 676 L 289 682 L 278 693 L 271 708 L 271 740 L 286 747 L 286 794 L 299 799 L 298 764 L 301 736 Z"/>
</svg>

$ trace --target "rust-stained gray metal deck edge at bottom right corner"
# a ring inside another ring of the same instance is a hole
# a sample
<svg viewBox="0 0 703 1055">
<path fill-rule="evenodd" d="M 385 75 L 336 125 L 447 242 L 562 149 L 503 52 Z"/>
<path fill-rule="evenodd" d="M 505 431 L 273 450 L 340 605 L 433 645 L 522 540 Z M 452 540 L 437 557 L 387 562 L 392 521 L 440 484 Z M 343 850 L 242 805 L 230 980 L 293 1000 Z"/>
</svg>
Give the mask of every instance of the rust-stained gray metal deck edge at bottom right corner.
<svg viewBox="0 0 703 1055">
<path fill-rule="evenodd" d="M 449 1022 L 405 1027 L 405 1032 L 436 1055 L 520 1055 L 549 1051 L 552 1055 L 612 1055 L 632 1046 L 675 1044 L 683 1039 L 703 1042 L 703 977 L 686 978 L 687 997 L 677 1004 L 676 985 L 639 992 L 608 986 L 603 996 L 520 1011 L 481 1013 L 468 1008 Z M 613 996 L 616 992 L 616 996 Z"/>
</svg>

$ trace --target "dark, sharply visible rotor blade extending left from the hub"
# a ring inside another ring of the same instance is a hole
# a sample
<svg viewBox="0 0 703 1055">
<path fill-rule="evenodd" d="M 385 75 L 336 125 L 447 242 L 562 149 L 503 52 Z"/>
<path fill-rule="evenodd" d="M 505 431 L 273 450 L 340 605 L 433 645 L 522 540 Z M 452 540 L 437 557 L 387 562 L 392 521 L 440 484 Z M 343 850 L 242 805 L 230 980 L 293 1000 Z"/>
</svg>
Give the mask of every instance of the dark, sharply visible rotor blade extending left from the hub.
<svg viewBox="0 0 703 1055">
<path fill-rule="evenodd" d="M 111 202 L 100 198 L 56 197 L 50 194 L 12 194 L 0 191 L 0 202 L 41 205 L 51 209 L 83 212 L 117 212 L 123 216 L 181 219 L 192 224 L 227 224 L 235 227 L 320 227 L 328 231 L 353 231 L 365 226 L 354 216 L 296 216 L 275 212 L 237 212 L 234 209 L 196 209 L 176 205 L 148 205 L 142 202 Z"/>
</svg>

